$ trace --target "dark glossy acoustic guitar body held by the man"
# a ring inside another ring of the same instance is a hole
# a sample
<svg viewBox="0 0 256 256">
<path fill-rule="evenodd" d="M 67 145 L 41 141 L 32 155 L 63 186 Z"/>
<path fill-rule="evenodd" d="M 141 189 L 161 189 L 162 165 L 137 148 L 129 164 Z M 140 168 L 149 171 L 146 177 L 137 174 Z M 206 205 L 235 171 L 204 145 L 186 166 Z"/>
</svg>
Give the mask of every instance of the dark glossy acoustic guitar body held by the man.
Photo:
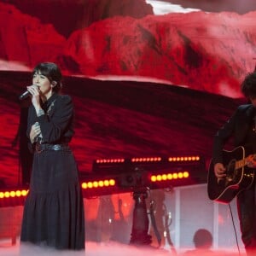
<svg viewBox="0 0 256 256">
<path fill-rule="evenodd" d="M 214 174 L 211 160 L 208 170 L 207 193 L 212 201 L 230 203 L 241 190 L 253 183 L 254 169 L 245 166 L 245 148 L 237 147 L 232 151 L 223 150 L 224 166 L 227 177 L 218 180 Z"/>
</svg>

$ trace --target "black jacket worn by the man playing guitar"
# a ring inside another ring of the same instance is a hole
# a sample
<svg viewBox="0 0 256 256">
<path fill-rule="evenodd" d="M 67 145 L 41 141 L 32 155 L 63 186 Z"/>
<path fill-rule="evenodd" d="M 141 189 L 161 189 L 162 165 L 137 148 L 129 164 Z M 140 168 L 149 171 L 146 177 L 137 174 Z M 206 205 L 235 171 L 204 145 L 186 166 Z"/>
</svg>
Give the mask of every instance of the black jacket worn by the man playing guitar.
<svg viewBox="0 0 256 256">
<path fill-rule="evenodd" d="M 252 104 L 239 106 L 230 119 L 218 130 L 213 139 L 213 164 L 223 162 L 222 150 L 230 137 L 233 137 L 234 147 L 244 145 L 249 125 L 255 114 L 254 109 Z"/>
</svg>

